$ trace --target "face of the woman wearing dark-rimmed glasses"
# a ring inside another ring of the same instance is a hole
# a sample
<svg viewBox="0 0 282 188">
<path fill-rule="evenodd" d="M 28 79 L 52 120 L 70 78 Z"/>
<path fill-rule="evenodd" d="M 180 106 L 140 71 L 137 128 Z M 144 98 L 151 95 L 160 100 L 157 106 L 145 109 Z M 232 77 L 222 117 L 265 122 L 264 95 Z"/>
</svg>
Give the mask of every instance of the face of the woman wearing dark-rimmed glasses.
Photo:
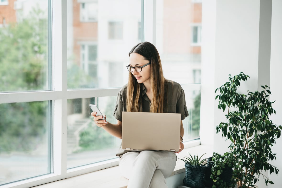
<svg viewBox="0 0 282 188">
<path fill-rule="evenodd" d="M 129 56 L 129 65 L 131 67 L 135 67 L 135 66 L 142 67 L 143 65 L 146 65 L 147 63 L 149 63 L 149 61 L 145 60 L 144 56 L 140 54 L 132 53 Z M 141 72 L 137 72 L 135 71 L 135 69 L 133 69 L 131 73 L 136 78 L 139 84 L 144 83 L 144 82 L 150 83 L 151 65 L 147 65 L 143 67 Z"/>
</svg>

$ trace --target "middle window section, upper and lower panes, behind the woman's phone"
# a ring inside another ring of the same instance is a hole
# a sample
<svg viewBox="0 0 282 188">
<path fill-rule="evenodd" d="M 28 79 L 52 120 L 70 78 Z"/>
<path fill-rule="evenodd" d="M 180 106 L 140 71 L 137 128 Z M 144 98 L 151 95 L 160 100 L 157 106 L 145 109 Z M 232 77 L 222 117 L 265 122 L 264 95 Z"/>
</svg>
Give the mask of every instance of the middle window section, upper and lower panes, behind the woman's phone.
<svg viewBox="0 0 282 188">
<path fill-rule="evenodd" d="M 107 121 L 116 123 L 113 112 L 118 89 L 113 88 L 127 83 L 127 54 L 141 35 L 141 0 L 99 1 L 97 22 L 76 19 L 88 4 L 95 2 L 73 1 L 67 13 L 68 89 L 95 89 L 89 91 L 92 97 L 67 99 L 67 169 L 116 158 L 120 139 L 94 124 L 89 104 L 96 104 L 107 115 Z M 130 9 L 124 6 L 126 3 Z M 113 21 L 116 18 L 118 21 Z M 124 27 L 130 35 L 123 35 Z"/>
</svg>

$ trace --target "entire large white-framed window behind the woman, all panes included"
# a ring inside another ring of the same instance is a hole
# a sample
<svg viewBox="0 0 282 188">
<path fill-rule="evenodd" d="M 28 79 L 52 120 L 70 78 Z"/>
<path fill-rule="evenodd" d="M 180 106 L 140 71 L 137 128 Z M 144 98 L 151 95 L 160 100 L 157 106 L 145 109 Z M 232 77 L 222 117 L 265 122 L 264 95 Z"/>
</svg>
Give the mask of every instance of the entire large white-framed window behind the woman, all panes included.
<svg viewBox="0 0 282 188">
<path fill-rule="evenodd" d="M 165 77 L 185 91 L 185 141 L 199 138 L 201 47 L 190 46 L 191 19 L 175 22 L 169 12 L 177 6 L 174 11 L 189 16 L 192 5 L 184 10 L 157 1 L 154 14 L 155 4 L 146 2 L 17 0 L 14 7 L 0 6 L 0 185 L 33 187 L 118 165 L 121 140 L 94 124 L 89 104 L 116 123 L 128 53 L 141 41 L 156 45 Z"/>
</svg>

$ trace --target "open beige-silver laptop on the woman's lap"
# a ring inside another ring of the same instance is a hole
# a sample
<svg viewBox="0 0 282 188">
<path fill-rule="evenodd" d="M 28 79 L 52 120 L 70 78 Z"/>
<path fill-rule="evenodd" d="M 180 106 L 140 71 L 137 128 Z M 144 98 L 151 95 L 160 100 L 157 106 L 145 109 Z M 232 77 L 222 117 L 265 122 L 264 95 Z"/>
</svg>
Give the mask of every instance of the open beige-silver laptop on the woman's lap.
<svg viewBox="0 0 282 188">
<path fill-rule="evenodd" d="M 179 151 L 180 113 L 122 112 L 122 149 Z"/>
</svg>

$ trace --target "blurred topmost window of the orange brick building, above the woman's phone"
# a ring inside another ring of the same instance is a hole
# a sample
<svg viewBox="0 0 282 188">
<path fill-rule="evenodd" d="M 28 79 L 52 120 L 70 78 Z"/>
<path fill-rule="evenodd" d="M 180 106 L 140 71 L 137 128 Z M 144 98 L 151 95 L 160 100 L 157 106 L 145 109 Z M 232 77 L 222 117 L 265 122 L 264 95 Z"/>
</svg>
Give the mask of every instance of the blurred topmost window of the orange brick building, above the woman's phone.
<svg viewBox="0 0 282 188">
<path fill-rule="evenodd" d="M 80 3 L 80 21 L 81 22 L 98 21 L 98 2 Z"/>
</svg>

